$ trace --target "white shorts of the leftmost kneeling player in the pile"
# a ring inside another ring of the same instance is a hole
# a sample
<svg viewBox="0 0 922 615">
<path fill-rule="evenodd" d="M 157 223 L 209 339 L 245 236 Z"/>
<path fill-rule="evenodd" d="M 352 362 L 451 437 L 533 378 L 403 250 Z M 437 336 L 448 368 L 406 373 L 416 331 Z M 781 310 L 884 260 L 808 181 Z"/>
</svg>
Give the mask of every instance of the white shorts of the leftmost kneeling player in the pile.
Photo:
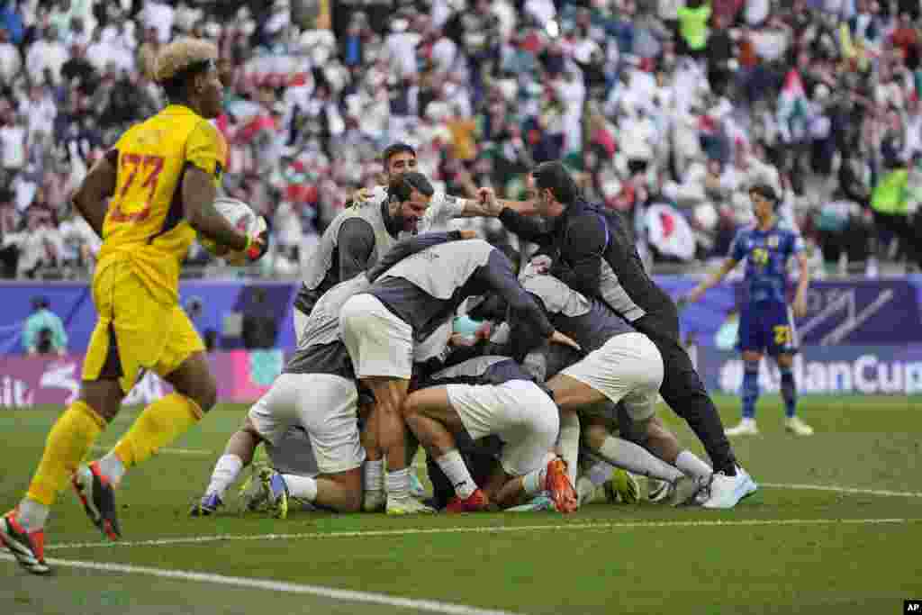
<svg viewBox="0 0 922 615">
<path fill-rule="evenodd" d="M 337 474 L 365 461 L 359 442 L 355 383 L 329 373 L 283 373 L 249 417 L 256 432 L 278 446 L 292 425 L 307 432 L 321 474 Z"/>
</svg>

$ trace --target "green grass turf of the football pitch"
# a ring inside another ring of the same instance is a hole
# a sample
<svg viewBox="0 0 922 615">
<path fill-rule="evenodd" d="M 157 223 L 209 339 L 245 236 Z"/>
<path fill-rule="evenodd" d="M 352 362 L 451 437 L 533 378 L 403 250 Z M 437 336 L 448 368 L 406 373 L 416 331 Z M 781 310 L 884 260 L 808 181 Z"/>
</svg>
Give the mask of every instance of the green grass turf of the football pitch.
<svg viewBox="0 0 922 615">
<path fill-rule="evenodd" d="M 736 399 L 719 397 L 717 402 L 727 424 L 739 420 Z M 680 440 L 700 453 L 691 432 L 665 407 L 660 408 Z M 777 397 L 763 397 L 762 434 L 734 441 L 741 463 L 758 481 L 922 491 L 918 479 L 922 398 L 804 398 L 801 415 L 817 434 L 803 439 L 783 431 L 780 408 Z M 60 409 L 0 413 L 0 430 L 5 434 L 5 463 L 0 464 L 3 510 L 15 505 L 26 488 Z M 101 540 L 76 498 L 65 493 L 49 524 L 47 555 L 521 613 L 891 613 L 902 612 L 897 609 L 902 609 L 904 598 L 922 595 L 918 552 L 922 497 L 917 496 L 763 487 L 732 511 L 594 504 L 567 517 L 292 514 L 278 521 L 231 511 L 190 519 L 188 506 L 200 495 L 244 411 L 241 406 L 217 408 L 171 445 L 210 453 L 163 453 L 129 474 L 119 492 L 124 538 L 306 536 L 54 549 Z M 113 444 L 135 415 L 126 410 L 100 444 Z M 877 525 L 837 521 L 892 518 L 905 521 Z M 677 525 L 696 520 L 736 525 Z M 739 524 L 748 520 L 821 523 Z M 514 526 L 524 527 L 508 531 Z M 452 531 L 478 527 L 500 531 Z M 367 534 L 413 529 L 434 531 Z M 0 560 L 0 579 L 3 613 L 421 612 L 65 567 L 52 578 L 37 578 L 4 560 Z"/>
</svg>

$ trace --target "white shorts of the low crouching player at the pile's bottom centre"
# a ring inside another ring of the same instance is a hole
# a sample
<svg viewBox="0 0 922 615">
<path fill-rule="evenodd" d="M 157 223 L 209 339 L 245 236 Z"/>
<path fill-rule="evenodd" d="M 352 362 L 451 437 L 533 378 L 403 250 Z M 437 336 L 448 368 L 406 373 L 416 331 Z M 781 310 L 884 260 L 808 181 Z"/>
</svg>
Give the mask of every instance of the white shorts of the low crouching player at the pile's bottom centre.
<svg viewBox="0 0 922 615">
<path fill-rule="evenodd" d="M 448 384 L 448 401 L 474 440 L 497 435 L 505 445 L 500 463 L 506 474 L 525 476 L 544 467 L 557 440 L 557 406 L 538 384 Z"/>
</svg>

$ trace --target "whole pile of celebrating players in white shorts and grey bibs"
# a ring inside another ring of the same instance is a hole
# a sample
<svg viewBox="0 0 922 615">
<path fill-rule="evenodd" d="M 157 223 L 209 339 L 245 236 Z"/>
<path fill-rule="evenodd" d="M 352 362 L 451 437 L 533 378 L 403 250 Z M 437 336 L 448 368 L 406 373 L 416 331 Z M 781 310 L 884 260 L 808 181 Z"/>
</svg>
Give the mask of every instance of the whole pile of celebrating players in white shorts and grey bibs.
<svg viewBox="0 0 922 615">
<path fill-rule="evenodd" d="M 242 497 L 278 516 L 566 514 L 642 491 L 731 508 L 756 491 L 680 346 L 675 303 L 619 215 L 587 203 L 561 163 L 529 173 L 524 202 L 435 191 L 404 144 L 383 164 L 388 185 L 355 195 L 325 231 L 295 304 L 297 350 L 192 514 L 219 510 L 261 444 L 269 463 Z M 500 248 L 451 230 L 468 217 L 497 218 L 537 249 L 516 273 Z M 660 396 L 710 464 L 657 417 Z"/>
</svg>

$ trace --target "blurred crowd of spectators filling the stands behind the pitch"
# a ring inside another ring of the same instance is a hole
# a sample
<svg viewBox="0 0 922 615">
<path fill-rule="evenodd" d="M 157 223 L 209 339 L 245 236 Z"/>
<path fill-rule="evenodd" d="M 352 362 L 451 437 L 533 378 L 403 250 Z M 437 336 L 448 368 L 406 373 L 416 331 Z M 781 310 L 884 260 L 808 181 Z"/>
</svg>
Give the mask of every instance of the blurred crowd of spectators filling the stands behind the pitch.
<svg viewBox="0 0 922 615">
<path fill-rule="evenodd" d="M 151 61 L 183 34 L 219 44 L 224 188 L 271 226 L 251 273 L 297 276 L 396 140 L 454 195 L 565 160 L 655 270 L 723 257 L 755 182 L 814 275 L 916 270 L 920 26 L 918 0 L 0 0 L 0 273 L 87 275 L 68 195 L 160 109 Z"/>
</svg>

